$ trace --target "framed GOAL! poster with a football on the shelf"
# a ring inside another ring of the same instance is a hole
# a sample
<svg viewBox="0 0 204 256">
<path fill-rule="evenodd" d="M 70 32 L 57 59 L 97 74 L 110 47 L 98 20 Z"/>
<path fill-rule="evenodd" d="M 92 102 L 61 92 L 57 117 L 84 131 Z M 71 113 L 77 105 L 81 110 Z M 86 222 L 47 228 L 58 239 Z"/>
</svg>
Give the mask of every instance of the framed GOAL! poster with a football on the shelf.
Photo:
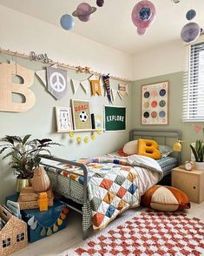
<svg viewBox="0 0 204 256">
<path fill-rule="evenodd" d="M 72 99 L 72 113 L 76 131 L 91 130 L 91 116 L 89 100 Z"/>
</svg>

